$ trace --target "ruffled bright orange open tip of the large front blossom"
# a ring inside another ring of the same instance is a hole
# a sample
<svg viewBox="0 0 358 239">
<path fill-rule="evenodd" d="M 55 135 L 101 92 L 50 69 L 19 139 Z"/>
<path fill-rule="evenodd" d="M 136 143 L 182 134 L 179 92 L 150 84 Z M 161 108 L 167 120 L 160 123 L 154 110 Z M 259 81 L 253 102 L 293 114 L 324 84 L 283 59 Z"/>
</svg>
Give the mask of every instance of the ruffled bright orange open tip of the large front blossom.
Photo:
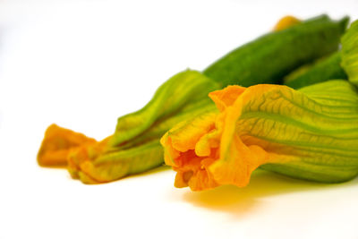
<svg viewBox="0 0 358 239">
<path fill-rule="evenodd" d="M 289 160 L 265 150 L 267 141 L 245 137 L 237 125 L 243 107 L 247 107 L 262 92 L 277 86 L 256 85 L 250 88 L 228 86 L 213 91 L 209 97 L 219 113 L 200 115 L 177 124 L 161 139 L 166 165 L 177 172 L 176 187 L 189 186 L 193 191 L 234 184 L 249 184 L 251 173 L 258 166 Z M 250 141 L 250 142 L 249 142 Z"/>
</svg>

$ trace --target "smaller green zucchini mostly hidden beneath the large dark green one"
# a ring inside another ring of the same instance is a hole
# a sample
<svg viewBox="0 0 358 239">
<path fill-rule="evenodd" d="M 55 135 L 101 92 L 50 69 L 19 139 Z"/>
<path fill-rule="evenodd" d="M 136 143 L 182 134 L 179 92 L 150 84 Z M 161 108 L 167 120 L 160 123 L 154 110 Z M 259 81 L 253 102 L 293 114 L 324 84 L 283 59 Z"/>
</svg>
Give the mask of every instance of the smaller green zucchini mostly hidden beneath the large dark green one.
<svg viewBox="0 0 358 239">
<path fill-rule="evenodd" d="M 311 66 L 307 71 L 298 75 L 294 79 L 287 78 L 284 83 L 294 89 L 300 89 L 304 86 L 328 81 L 332 79 L 347 80 L 348 76 L 341 67 L 341 53 L 336 52 L 329 55 L 328 58 Z"/>
</svg>

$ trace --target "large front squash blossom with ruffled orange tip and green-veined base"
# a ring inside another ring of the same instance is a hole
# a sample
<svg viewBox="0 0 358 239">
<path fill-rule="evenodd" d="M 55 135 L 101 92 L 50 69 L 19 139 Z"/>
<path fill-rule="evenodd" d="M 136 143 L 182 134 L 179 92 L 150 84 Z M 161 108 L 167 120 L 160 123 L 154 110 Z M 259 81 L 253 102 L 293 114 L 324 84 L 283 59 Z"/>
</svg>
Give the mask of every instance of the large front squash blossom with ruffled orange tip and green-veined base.
<svg viewBox="0 0 358 239">
<path fill-rule="evenodd" d="M 209 97 L 217 111 L 177 124 L 161 139 L 176 187 L 243 187 L 259 166 L 323 183 L 358 175 L 358 95 L 348 81 L 301 90 L 228 86 Z"/>
</svg>

